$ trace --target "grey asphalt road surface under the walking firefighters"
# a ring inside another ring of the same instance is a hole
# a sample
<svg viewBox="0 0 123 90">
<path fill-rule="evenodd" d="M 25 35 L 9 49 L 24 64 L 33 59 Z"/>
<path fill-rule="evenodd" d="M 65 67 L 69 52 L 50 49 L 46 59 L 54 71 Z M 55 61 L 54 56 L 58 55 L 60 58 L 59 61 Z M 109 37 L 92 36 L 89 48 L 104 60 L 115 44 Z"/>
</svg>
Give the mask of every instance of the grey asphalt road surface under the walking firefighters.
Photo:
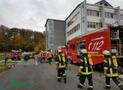
<svg viewBox="0 0 123 90">
<path fill-rule="evenodd" d="M 69 65 L 67 83 L 57 82 L 55 64 L 42 63 L 35 65 L 33 60 L 26 64 L 21 61 L 14 68 L 0 75 L 0 90 L 81 90 L 76 76 L 78 66 Z M 105 90 L 104 75 L 98 72 L 93 74 L 94 90 Z M 111 90 L 119 90 L 112 83 Z M 87 89 L 87 80 L 83 90 Z"/>
</svg>

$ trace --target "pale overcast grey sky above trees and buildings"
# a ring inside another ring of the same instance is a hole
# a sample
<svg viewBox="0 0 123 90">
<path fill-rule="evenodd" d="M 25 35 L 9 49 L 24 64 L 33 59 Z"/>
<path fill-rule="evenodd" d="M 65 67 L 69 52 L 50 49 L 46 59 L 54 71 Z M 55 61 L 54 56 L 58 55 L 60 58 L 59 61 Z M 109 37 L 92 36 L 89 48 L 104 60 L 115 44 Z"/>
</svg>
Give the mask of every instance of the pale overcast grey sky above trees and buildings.
<svg viewBox="0 0 123 90">
<path fill-rule="evenodd" d="M 0 0 L 0 24 L 44 31 L 47 18 L 65 20 L 83 0 Z M 87 0 L 94 4 L 100 0 Z M 107 0 L 123 9 L 123 0 Z"/>
</svg>

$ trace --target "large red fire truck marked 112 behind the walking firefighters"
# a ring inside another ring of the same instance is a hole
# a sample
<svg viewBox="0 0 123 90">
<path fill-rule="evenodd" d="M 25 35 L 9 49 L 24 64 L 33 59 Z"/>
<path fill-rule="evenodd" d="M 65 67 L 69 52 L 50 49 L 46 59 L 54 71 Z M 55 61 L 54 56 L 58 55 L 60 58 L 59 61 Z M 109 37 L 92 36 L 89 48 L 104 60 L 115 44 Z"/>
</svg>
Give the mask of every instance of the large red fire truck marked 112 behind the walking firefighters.
<svg viewBox="0 0 123 90">
<path fill-rule="evenodd" d="M 77 52 L 80 50 L 79 42 L 84 41 L 85 47 L 92 56 L 94 65 L 101 64 L 104 60 L 104 50 L 115 50 L 118 58 L 123 59 L 123 27 L 105 27 L 67 42 L 67 56 L 71 63 L 79 63 Z"/>
</svg>

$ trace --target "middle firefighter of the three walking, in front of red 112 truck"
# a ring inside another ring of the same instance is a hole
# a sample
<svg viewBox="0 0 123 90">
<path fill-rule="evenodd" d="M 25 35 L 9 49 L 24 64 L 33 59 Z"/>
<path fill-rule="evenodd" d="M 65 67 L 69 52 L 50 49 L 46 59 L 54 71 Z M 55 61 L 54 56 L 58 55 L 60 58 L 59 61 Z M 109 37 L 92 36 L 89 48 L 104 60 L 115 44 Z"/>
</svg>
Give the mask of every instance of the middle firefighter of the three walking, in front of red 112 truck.
<svg viewBox="0 0 123 90">
<path fill-rule="evenodd" d="M 79 67 L 79 84 L 78 88 L 83 88 L 85 79 L 88 79 L 89 87 L 87 90 L 93 90 L 93 80 L 92 80 L 92 59 L 90 54 L 88 54 L 86 49 L 81 49 L 80 54 L 80 67 Z"/>
</svg>

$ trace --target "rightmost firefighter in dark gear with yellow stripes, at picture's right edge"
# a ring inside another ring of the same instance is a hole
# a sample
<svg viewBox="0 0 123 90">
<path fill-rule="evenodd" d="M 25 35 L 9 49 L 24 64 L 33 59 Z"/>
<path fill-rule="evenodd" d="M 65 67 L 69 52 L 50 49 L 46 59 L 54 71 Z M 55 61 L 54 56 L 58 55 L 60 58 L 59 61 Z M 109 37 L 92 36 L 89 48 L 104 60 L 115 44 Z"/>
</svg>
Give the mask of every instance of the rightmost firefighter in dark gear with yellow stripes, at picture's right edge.
<svg viewBox="0 0 123 90">
<path fill-rule="evenodd" d="M 116 54 L 114 52 L 109 52 L 108 50 L 103 51 L 105 60 L 103 64 L 104 68 L 104 74 L 105 74 L 105 89 L 110 89 L 110 78 L 115 82 L 115 84 L 120 88 L 120 90 L 123 90 L 123 86 L 118 81 L 118 64 L 117 64 L 117 58 Z"/>
</svg>

